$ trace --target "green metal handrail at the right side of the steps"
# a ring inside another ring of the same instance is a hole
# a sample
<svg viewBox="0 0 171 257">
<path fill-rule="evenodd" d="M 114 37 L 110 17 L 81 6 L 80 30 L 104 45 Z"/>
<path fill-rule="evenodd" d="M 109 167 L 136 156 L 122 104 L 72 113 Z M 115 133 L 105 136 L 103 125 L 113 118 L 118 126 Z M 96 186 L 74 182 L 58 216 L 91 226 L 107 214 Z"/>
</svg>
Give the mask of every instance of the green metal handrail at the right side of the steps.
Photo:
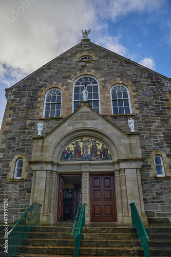
<svg viewBox="0 0 171 257">
<path fill-rule="evenodd" d="M 139 240 L 141 241 L 141 247 L 144 250 L 144 256 L 150 257 L 149 246 L 148 246 L 149 238 L 144 228 L 144 225 L 141 221 L 141 218 L 137 211 L 135 203 L 130 204 L 130 210 L 131 210 L 132 226 L 136 227 L 137 229 Z"/>
</svg>

